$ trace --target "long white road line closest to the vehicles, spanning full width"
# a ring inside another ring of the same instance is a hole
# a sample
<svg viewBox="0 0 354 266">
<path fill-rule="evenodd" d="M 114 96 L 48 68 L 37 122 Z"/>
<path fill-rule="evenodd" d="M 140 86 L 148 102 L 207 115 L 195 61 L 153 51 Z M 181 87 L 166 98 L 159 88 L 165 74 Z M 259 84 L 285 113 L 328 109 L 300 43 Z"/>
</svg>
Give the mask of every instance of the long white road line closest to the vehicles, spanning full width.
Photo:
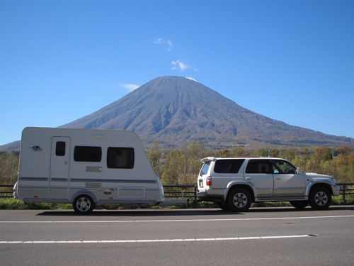
<svg viewBox="0 0 354 266">
<path fill-rule="evenodd" d="M 0 223 L 171 223 L 171 222 L 204 222 L 204 221 L 267 221 L 267 220 L 296 220 L 317 218 L 353 218 L 354 215 L 337 216 L 300 216 L 274 218 L 223 218 L 223 219 L 173 219 L 173 220 L 95 220 L 95 221 L 0 221 Z"/>
</svg>

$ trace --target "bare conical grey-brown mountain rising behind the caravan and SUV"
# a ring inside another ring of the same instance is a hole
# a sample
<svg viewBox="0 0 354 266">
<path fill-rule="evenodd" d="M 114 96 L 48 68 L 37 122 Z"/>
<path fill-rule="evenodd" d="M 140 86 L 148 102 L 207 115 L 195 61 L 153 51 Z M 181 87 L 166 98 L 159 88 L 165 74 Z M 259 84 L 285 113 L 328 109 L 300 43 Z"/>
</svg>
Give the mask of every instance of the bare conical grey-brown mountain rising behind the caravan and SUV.
<svg viewBox="0 0 354 266">
<path fill-rule="evenodd" d="M 352 138 L 290 126 L 254 113 L 184 77 L 158 77 L 103 109 L 64 127 L 135 131 L 144 143 L 215 147 L 351 145 Z"/>
</svg>

